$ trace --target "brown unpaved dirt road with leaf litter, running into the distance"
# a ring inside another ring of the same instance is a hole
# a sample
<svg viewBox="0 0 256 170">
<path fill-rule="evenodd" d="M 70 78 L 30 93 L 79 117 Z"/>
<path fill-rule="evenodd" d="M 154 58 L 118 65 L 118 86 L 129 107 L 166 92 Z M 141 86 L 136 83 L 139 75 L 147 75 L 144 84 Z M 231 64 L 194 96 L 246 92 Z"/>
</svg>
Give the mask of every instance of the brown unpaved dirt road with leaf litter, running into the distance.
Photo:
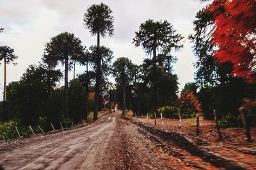
<svg viewBox="0 0 256 170">
<path fill-rule="evenodd" d="M 119 113 L 31 142 L 1 144 L 4 169 L 223 169 L 149 134 Z"/>
</svg>

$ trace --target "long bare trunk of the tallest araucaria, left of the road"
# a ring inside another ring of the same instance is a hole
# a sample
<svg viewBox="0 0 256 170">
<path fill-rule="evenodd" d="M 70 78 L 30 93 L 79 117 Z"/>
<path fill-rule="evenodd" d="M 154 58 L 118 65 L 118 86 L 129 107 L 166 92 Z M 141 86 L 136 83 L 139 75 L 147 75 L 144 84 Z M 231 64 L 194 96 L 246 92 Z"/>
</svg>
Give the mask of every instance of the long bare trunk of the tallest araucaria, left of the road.
<svg viewBox="0 0 256 170">
<path fill-rule="evenodd" d="M 97 47 L 100 48 L 100 33 L 97 33 Z M 95 84 L 95 104 L 93 112 L 93 120 L 98 118 L 98 108 L 99 108 L 99 93 L 100 93 L 100 56 L 97 54 L 96 63 L 96 84 Z"/>
</svg>

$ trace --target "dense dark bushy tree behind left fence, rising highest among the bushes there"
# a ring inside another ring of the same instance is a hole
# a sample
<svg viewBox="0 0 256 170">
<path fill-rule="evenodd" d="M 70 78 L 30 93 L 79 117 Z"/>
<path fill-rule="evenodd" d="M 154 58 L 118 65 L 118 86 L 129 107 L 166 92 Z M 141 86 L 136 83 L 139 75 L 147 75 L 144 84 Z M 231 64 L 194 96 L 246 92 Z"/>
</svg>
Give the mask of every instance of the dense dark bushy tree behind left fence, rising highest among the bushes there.
<svg viewBox="0 0 256 170">
<path fill-rule="evenodd" d="M 12 97 L 19 105 L 23 125 L 38 125 L 40 116 L 49 115 L 44 112 L 45 104 L 61 77 L 60 70 L 47 70 L 43 65 L 29 65 L 20 78 L 17 94 Z M 52 117 L 51 115 L 50 118 Z"/>
</svg>

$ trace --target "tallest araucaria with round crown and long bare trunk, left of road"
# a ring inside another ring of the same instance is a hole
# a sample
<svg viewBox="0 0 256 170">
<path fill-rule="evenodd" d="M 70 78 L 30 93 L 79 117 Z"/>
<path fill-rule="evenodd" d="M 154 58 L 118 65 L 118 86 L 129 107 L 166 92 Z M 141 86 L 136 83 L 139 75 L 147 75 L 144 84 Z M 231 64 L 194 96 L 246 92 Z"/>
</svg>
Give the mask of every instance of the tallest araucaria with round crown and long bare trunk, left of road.
<svg viewBox="0 0 256 170">
<path fill-rule="evenodd" d="M 104 3 L 93 4 L 84 13 L 84 26 L 90 29 L 92 35 L 97 35 L 97 48 L 100 48 L 100 35 L 102 37 L 109 35 L 113 36 L 113 16 L 112 11 L 108 5 Z M 100 93 L 100 58 L 97 54 L 96 64 L 96 84 L 95 84 L 95 108 L 93 113 L 93 120 L 98 118 L 99 108 L 99 93 Z"/>
</svg>

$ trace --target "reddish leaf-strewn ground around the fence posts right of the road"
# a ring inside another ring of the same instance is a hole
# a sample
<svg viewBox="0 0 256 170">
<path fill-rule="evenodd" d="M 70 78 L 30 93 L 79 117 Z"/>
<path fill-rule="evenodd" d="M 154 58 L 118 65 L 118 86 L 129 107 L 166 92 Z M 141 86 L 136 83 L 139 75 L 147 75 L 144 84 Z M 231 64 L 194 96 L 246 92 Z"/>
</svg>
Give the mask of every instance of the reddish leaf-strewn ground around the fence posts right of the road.
<svg viewBox="0 0 256 170">
<path fill-rule="evenodd" d="M 134 120 L 134 118 L 132 118 Z M 143 122 L 145 125 L 153 125 L 154 119 L 135 118 L 134 121 Z M 191 139 L 199 139 L 204 143 L 204 148 L 221 158 L 237 162 L 246 169 L 256 167 L 256 127 L 252 127 L 250 132 L 253 141 L 246 140 L 244 128 L 222 128 L 223 139 L 218 137 L 214 121 L 200 119 L 200 134 L 196 137 L 195 119 L 182 119 L 182 128 L 179 130 L 179 120 L 163 118 L 157 119 L 156 127 L 167 132 L 181 132 L 188 135 Z"/>
</svg>

